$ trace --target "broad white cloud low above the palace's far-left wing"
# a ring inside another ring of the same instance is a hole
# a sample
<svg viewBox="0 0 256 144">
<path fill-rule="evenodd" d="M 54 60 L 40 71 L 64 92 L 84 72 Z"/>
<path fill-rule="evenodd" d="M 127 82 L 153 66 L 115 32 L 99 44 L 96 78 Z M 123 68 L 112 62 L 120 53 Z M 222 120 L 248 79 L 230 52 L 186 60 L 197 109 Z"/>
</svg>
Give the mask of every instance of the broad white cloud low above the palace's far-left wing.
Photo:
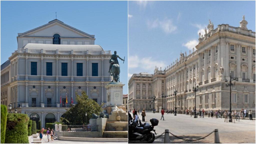
<svg viewBox="0 0 256 144">
<path fill-rule="evenodd" d="M 162 67 L 162 70 L 164 67 L 166 67 L 165 63 L 163 61 L 157 61 L 152 59 L 152 57 L 143 57 L 139 58 L 137 55 L 135 56 L 130 56 L 129 57 L 129 62 L 128 62 L 128 67 L 129 68 L 140 68 L 143 70 L 152 70 L 157 67 Z"/>
</svg>

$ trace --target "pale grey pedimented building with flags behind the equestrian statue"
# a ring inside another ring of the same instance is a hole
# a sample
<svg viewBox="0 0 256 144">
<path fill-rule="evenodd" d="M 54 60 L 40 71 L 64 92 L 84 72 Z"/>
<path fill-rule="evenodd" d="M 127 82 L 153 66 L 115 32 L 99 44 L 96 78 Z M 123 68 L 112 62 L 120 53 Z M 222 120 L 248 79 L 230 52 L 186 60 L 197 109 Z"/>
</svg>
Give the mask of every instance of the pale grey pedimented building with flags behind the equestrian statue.
<svg viewBox="0 0 256 144">
<path fill-rule="evenodd" d="M 94 35 L 58 19 L 18 33 L 18 48 L 1 65 L 1 104 L 36 115 L 45 127 L 59 121 L 72 100 L 76 104 L 76 93 L 106 103 L 111 51 L 94 41 Z"/>
</svg>

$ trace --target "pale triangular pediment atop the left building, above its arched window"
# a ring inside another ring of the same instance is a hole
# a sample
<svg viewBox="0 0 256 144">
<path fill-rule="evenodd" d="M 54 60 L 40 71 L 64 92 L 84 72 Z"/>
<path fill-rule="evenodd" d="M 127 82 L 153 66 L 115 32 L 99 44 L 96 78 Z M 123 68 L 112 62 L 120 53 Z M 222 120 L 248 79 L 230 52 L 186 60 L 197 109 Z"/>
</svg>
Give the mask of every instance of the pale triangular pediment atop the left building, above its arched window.
<svg viewBox="0 0 256 144">
<path fill-rule="evenodd" d="M 87 34 L 71 27 L 58 19 L 50 21 L 48 24 L 31 29 L 24 33 L 18 33 L 18 36 L 33 36 L 33 37 L 52 37 L 54 34 L 59 34 L 60 37 L 73 38 L 94 38 L 94 35 Z"/>
</svg>

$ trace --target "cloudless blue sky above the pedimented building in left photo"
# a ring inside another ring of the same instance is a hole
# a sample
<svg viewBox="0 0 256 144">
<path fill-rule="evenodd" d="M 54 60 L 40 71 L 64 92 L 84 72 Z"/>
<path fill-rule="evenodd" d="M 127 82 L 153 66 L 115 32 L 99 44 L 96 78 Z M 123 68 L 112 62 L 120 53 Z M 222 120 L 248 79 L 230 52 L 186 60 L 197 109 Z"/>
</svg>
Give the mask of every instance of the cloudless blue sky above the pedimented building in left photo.
<svg viewBox="0 0 256 144">
<path fill-rule="evenodd" d="M 116 50 L 120 57 L 120 81 L 127 94 L 127 1 L 1 1 L 1 64 L 17 49 L 17 34 L 55 19 L 95 35 L 95 44 Z"/>
</svg>

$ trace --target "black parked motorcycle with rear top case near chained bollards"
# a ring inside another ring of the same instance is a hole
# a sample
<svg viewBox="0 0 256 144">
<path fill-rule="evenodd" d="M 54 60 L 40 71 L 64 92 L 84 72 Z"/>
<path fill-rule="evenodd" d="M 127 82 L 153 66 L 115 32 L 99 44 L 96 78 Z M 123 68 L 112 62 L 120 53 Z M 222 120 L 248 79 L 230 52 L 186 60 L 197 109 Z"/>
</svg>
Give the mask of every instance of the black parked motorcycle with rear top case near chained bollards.
<svg viewBox="0 0 256 144">
<path fill-rule="evenodd" d="M 142 124 L 140 119 L 138 119 L 138 121 L 140 125 L 138 125 L 137 121 L 132 121 L 132 118 L 129 118 L 128 139 L 130 141 L 139 140 L 141 143 L 152 143 L 155 140 L 155 135 L 151 131 L 154 131 L 156 134 L 154 126 L 157 126 L 159 121 L 155 118 L 152 118 L 150 120 L 151 125 L 148 123 Z"/>
</svg>

